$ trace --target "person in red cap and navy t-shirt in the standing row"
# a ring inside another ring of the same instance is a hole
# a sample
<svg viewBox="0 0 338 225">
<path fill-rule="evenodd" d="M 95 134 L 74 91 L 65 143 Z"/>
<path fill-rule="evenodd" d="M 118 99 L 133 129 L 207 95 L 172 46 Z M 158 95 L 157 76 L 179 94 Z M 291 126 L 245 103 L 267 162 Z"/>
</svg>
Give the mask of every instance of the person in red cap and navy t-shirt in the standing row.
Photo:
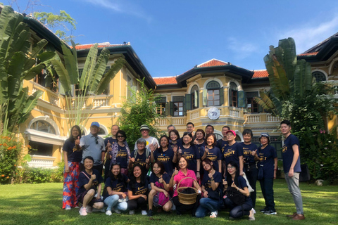
<svg viewBox="0 0 338 225">
<path fill-rule="evenodd" d="M 227 131 L 227 146 L 222 150 L 223 160 L 225 161 L 225 168 L 229 162 L 236 162 L 239 165 L 239 175 L 243 176 L 243 148 L 235 141 L 236 132 L 231 129 Z M 226 171 L 226 169 L 225 169 Z"/>
</svg>

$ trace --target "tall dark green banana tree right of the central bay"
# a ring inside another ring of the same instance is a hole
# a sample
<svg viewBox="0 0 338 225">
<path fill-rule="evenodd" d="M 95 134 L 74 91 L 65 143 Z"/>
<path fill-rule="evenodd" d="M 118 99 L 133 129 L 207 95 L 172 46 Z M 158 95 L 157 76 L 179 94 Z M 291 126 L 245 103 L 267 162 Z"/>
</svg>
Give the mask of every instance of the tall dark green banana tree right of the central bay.
<svg viewBox="0 0 338 225">
<path fill-rule="evenodd" d="M 312 90 L 313 77 L 311 65 L 306 60 L 297 60 L 294 39 L 282 39 L 278 46 L 270 46 L 264 57 L 265 68 L 269 74 L 270 90 L 260 91 L 253 98 L 262 108 L 275 116 L 282 114 L 282 105 L 293 96 L 299 99 Z"/>
</svg>

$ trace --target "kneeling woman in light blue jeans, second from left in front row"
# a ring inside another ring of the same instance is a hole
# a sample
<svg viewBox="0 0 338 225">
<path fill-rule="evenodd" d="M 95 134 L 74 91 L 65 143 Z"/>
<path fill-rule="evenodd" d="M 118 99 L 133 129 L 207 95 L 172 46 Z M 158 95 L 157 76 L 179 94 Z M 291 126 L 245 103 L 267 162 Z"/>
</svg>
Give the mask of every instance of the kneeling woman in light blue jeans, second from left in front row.
<svg viewBox="0 0 338 225">
<path fill-rule="evenodd" d="M 106 214 L 111 216 L 111 211 L 115 210 L 120 214 L 120 210 L 127 210 L 127 183 L 129 179 L 125 174 L 121 174 L 120 164 L 111 165 L 111 171 L 105 183 L 106 195 L 104 203 L 108 205 Z"/>
</svg>

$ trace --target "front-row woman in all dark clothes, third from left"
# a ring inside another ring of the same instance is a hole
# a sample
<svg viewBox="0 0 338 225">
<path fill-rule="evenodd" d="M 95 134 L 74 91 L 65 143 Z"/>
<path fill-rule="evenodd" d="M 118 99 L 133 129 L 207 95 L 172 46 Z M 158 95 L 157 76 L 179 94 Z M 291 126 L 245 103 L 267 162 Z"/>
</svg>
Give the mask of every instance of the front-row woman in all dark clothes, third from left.
<svg viewBox="0 0 338 225">
<path fill-rule="evenodd" d="M 146 173 L 142 172 L 142 167 L 140 165 L 134 165 L 127 189 L 129 214 L 134 214 L 135 210 L 139 207 L 142 210 L 142 215 L 145 216 L 148 180 L 146 179 Z"/>
</svg>

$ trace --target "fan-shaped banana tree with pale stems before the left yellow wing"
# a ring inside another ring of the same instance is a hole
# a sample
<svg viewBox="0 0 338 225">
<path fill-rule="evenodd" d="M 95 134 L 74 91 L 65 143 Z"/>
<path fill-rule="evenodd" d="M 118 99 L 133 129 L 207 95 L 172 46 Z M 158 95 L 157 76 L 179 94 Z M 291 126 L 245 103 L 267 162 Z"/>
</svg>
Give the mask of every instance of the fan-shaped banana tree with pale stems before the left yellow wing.
<svg viewBox="0 0 338 225">
<path fill-rule="evenodd" d="M 104 73 L 108 64 L 110 51 L 106 48 L 102 49 L 98 56 L 98 44 L 94 44 L 89 50 L 84 68 L 82 70 L 81 77 L 78 72 L 77 65 L 77 53 L 75 49 L 74 41 L 71 41 L 72 48 L 68 48 L 65 44 L 62 44 L 63 60 L 56 56 L 51 60 L 52 67 L 49 67 L 49 71 L 57 73 L 62 89 L 65 94 L 64 109 L 68 114 L 68 126 L 84 125 L 88 119 L 82 120 L 82 118 L 89 118 L 89 111 L 82 110 L 83 105 L 92 107 L 92 104 L 88 103 L 87 96 L 102 94 L 102 92 L 108 87 L 111 79 L 115 77 L 116 73 L 125 64 L 125 59 L 120 57 L 115 60 L 115 63 L 111 66 L 108 72 Z M 78 84 L 77 93 L 73 94 L 73 86 Z"/>
</svg>

